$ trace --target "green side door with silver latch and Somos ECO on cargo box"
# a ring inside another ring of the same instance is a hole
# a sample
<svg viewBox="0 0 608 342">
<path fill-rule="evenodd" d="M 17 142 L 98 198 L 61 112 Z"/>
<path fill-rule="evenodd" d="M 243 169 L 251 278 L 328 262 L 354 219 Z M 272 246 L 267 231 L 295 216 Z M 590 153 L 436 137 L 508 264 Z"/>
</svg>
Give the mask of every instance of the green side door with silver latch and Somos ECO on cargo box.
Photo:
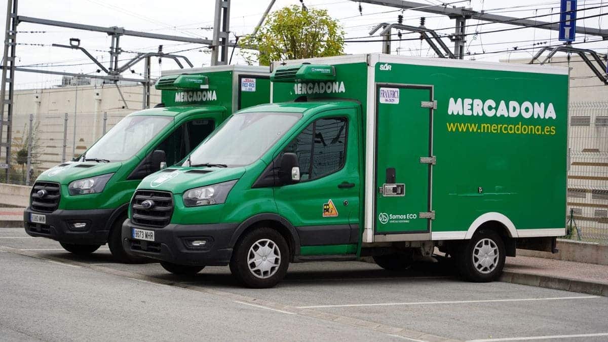
<svg viewBox="0 0 608 342">
<path fill-rule="evenodd" d="M 429 210 L 430 89 L 378 86 L 376 232 L 427 232 Z M 395 184 L 389 186 L 385 184 Z M 390 189 L 390 191 L 389 191 Z"/>
</svg>

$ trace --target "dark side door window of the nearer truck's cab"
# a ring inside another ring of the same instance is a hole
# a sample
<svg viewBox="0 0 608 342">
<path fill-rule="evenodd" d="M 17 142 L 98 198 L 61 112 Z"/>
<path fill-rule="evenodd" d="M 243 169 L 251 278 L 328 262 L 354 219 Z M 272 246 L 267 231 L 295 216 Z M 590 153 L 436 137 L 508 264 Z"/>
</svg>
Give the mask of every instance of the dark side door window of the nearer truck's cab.
<svg viewBox="0 0 608 342">
<path fill-rule="evenodd" d="M 345 117 L 319 119 L 308 125 L 283 150 L 295 153 L 300 180 L 314 180 L 342 169 L 346 156 L 348 120 Z"/>
</svg>

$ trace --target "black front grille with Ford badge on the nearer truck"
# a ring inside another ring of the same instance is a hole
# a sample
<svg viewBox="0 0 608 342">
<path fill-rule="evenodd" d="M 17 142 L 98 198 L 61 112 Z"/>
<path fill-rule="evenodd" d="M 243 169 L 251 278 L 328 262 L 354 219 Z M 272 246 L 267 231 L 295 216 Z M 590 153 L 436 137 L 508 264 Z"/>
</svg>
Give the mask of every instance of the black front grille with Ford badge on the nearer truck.
<svg viewBox="0 0 608 342">
<path fill-rule="evenodd" d="M 136 225 L 162 228 L 171 221 L 173 197 L 170 192 L 137 190 L 131 201 L 131 214 Z"/>
</svg>

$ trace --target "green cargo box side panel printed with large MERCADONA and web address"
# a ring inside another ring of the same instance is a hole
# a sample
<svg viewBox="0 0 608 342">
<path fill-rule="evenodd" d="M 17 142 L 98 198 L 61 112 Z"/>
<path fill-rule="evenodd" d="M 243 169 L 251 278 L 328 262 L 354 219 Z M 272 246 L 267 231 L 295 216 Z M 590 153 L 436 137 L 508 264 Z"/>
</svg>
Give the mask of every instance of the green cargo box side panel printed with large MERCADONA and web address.
<svg viewBox="0 0 608 342">
<path fill-rule="evenodd" d="M 487 212 L 517 229 L 565 226 L 567 75 L 381 65 L 376 82 L 434 88 L 432 231 L 466 231 Z"/>
</svg>

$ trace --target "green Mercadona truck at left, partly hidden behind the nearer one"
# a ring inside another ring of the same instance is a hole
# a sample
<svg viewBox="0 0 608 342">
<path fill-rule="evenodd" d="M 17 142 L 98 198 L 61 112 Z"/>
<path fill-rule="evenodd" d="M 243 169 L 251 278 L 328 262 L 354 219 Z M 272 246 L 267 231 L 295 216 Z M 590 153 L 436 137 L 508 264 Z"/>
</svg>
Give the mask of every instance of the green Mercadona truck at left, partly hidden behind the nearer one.
<svg viewBox="0 0 608 342">
<path fill-rule="evenodd" d="M 107 242 L 115 259 L 138 261 L 120 239 L 137 184 L 181 161 L 234 111 L 269 102 L 269 68 L 165 71 L 156 89 L 159 105 L 131 113 L 83 155 L 38 176 L 24 212 L 27 234 L 58 240 L 75 254 Z"/>
</svg>

